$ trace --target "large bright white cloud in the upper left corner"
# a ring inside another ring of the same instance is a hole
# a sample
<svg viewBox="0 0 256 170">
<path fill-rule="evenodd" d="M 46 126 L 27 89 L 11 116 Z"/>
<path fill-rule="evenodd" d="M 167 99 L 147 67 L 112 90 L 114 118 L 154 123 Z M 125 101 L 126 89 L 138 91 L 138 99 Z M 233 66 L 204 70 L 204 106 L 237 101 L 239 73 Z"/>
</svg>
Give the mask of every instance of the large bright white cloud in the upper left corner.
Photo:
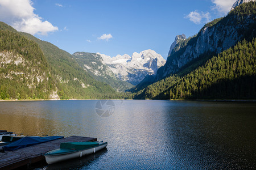
<svg viewBox="0 0 256 170">
<path fill-rule="evenodd" d="M 0 20 L 10 24 L 18 31 L 28 32 L 32 35 L 47 35 L 48 32 L 57 31 L 47 20 L 34 14 L 31 0 L 1 0 Z"/>
</svg>

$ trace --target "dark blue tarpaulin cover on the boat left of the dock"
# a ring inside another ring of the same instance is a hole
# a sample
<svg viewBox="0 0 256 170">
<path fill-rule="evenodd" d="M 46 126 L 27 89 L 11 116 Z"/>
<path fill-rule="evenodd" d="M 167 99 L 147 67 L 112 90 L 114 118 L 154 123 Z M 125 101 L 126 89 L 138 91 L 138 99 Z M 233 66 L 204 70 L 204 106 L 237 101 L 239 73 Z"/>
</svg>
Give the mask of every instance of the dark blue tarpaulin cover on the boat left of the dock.
<svg viewBox="0 0 256 170">
<path fill-rule="evenodd" d="M 19 148 L 24 148 L 28 146 L 38 145 L 39 143 L 54 141 L 56 139 L 61 139 L 64 137 L 61 136 L 52 136 L 52 137 L 24 137 L 18 141 L 12 142 L 9 145 L 3 147 L 4 151 L 14 151 Z"/>
</svg>

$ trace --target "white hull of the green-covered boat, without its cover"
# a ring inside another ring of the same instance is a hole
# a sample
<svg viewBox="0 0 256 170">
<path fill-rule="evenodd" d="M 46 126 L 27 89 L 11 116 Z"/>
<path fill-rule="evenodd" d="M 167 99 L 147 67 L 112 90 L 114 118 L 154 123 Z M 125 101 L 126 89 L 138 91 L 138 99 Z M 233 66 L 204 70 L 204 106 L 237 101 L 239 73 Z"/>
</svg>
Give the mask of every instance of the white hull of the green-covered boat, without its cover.
<svg viewBox="0 0 256 170">
<path fill-rule="evenodd" d="M 80 158 L 85 155 L 93 154 L 99 150 L 102 150 L 102 148 L 105 148 L 108 145 L 108 143 L 104 145 L 100 145 L 97 147 L 89 148 L 86 150 L 81 150 L 77 152 L 67 153 L 67 154 L 59 154 L 59 155 L 44 155 L 46 157 L 46 162 L 48 164 L 53 164 L 57 162 L 62 162 L 64 160 L 73 159 L 73 158 Z"/>
</svg>

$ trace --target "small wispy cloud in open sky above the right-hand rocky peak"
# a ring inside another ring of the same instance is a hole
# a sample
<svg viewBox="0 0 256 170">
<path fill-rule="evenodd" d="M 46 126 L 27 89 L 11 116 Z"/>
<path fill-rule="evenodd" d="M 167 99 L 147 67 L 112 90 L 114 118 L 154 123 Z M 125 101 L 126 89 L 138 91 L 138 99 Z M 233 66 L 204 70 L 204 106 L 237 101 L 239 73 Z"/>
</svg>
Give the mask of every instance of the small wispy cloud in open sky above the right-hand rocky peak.
<svg viewBox="0 0 256 170">
<path fill-rule="evenodd" d="M 195 24 L 201 24 L 202 22 L 207 23 L 210 21 L 210 13 L 209 12 L 201 12 L 201 14 L 197 11 L 190 12 L 185 18 L 188 18 Z"/>
</svg>

